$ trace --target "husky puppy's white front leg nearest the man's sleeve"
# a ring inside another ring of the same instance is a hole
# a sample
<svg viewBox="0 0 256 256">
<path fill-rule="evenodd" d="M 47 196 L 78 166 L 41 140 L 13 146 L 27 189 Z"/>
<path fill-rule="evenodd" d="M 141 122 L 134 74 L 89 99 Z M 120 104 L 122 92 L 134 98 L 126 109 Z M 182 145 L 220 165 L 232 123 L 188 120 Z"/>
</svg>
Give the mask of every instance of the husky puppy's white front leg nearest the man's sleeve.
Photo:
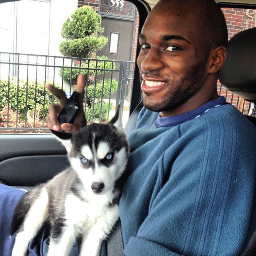
<svg viewBox="0 0 256 256">
<path fill-rule="evenodd" d="M 109 208 L 104 216 L 98 218 L 97 222 L 83 235 L 80 256 L 98 256 L 100 246 L 104 239 L 111 232 L 119 217 L 117 205 Z"/>
</svg>

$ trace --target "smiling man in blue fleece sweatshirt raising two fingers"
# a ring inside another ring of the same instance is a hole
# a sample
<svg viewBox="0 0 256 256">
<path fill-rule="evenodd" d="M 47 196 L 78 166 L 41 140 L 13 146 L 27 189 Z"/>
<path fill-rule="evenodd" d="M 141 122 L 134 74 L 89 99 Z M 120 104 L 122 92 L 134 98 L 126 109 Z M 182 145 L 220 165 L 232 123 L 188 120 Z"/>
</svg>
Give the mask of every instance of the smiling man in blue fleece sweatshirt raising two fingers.
<svg viewBox="0 0 256 256">
<path fill-rule="evenodd" d="M 237 255 L 253 225 L 256 129 L 218 97 L 227 29 L 213 0 L 161 0 L 139 36 L 143 108 L 120 200 L 126 255 Z M 85 80 L 78 76 L 82 100 Z M 61 105 L 65 93 L 46 87 Z M 75 131 L 85 123 L 82 113 Z M 250 226 L 249 226 L 250 225 Z M 106 255 L 103 246 L 102 254 Z"/>
</svg>

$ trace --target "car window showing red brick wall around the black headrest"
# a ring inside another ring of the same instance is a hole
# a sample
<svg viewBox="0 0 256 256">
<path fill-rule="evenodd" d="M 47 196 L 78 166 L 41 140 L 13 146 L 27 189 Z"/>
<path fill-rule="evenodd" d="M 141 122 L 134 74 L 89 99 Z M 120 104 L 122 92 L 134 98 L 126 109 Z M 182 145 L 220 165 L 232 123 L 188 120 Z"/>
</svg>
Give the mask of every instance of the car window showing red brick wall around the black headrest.
<svg viewBox="0 0 256 256">
<path fill-rule="evenodd" d="M 256 27 L 256 10 L 227 7 L 221 9 L 227 23 L 228 39 L 231 39 L 240 31 Z M 220 82 L 218 82 L 218 92 L 219 95 L 225 96 L 227 102 L 234 105 L 243 114 L 256 117 L 254 103 L 247 102 L 238 95 L 228 91 Z"/>
</svg>

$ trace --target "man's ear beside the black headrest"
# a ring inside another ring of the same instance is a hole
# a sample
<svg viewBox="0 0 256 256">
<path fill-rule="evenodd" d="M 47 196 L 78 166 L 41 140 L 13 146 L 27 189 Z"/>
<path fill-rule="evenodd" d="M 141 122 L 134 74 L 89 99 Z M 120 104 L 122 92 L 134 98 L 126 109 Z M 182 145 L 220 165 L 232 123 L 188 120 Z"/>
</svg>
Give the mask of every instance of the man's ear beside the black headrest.
<svg viewBox="0 0 256 256">
<path fill-rule="evenodd" d="M 210 51 L 210 62 L 208 66 L 208 74 L 217 73 L 223 66 L 227 56 L 227 50 L 224 46 L 219 46 Z"/>
</svg>

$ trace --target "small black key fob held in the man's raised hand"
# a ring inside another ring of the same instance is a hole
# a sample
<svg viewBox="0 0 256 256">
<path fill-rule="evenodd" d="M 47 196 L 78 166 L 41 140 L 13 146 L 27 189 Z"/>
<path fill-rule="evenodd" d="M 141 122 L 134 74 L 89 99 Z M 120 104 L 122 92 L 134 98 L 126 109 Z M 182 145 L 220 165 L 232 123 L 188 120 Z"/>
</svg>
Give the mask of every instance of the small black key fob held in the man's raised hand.
<svg viewBox="0 0 256 256">
<path fill-rule="evenodd" d="M 73 124 L 79 110 L 79 93 L 74 91 L 59 114 L 58 120 L 60 125 L 64 123 Z M 60 130 L 60 132 L 64 131 Z"/>
</svg>

